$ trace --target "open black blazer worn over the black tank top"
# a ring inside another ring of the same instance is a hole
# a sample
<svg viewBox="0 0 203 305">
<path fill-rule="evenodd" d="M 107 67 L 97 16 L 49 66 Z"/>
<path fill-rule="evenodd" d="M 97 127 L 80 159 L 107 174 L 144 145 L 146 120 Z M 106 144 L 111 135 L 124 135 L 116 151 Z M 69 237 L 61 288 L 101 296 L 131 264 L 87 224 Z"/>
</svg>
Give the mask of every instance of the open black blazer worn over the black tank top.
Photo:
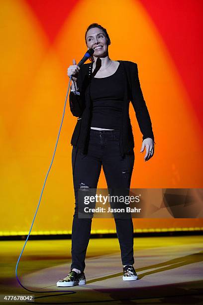
<svg viewBox="0 0 203 305">
<path fill-rule="evenodd" d="M 142 139 L 152 138 L 154 141 L 154 135 L 149 112 L 140 87 L 137 64 L 126 60 L 118 61 L 122 68 L 125 88 L 122 122 L 120 125 L 120 153 L 124 156 L 125 154 L 132 153 L 134 148 L 132 126 L 129 117 L 130 101 L 135 110 L 136 119 L 143 135 Z M 93 62 L 81 66 L 77 79 L 80 95 L 76 95 L 73 92 L 70 92 L 69 95 L 70 110 L 75 117 L 79 117 L 71 138 L 71 145 L 77 147 L 79 151 L 85 154 L 87 153 L 91 130 L 90 109 L 92 101 L 90 97 L 90 86 L 92 67 Z"/>
</svg>

